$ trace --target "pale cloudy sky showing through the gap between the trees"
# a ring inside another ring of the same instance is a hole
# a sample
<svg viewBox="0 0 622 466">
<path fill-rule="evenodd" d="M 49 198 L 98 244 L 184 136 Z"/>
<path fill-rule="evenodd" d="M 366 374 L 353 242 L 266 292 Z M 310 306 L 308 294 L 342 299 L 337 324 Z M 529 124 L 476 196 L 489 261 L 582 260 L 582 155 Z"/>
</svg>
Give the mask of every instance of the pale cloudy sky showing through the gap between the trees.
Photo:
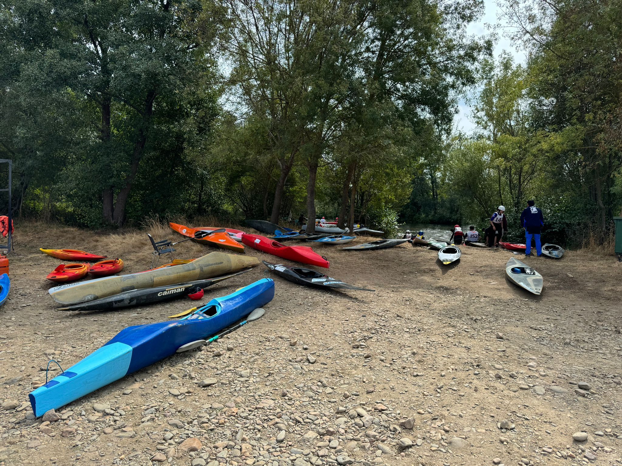
<svg viewBox="0 0 622 466">
<path fill-rule="evenodd" d="M 470 34 L 476 35 L 486 35 L 491 33 L 491 27 L 494 25 L 499 25 L 498 29 L 498 39 L 496 45 L 494 47 L 494 56 L 498 57 L 503 50 L 514 55 L 514 63 L 524 63 L 525 62 L 525 54 L 522 50 L 516 50 L 514 45 L 510 42 L 510 40 L 503 37 L 505 23 L 499 22 L 497 19 L 497 13 L 499 12 L 499 8 L 497 7 L 495 0 L 484 0 L 485 12 L 483 16 L 480 18 L 480 21 L 474 22 L 470 24 L 468 27 L 468 32 Z M 458 114 L 456 114 L 453 119 L 454 129 L 462 130 L 466 132 L 466 134 L 470 133 L 473 130 L 473 121 L 471 121 L 471 107 L 468 106 L 465 102 L 465 99 L 460 100 L 460 104 L 458 105 L 458 109 L 460 110 Z"/>
</svg>

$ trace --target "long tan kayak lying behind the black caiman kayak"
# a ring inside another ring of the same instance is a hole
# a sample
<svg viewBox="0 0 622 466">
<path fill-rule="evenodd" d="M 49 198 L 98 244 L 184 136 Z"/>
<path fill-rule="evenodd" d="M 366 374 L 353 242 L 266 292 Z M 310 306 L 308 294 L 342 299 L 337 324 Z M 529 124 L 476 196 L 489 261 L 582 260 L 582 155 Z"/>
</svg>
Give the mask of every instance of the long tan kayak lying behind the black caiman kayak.
<svg viewBox="0 0 622 466">
<path fill-rule="evenodd" d="M 105 298 L 123 291 L 204 280 L 258 264 L 259 259 L 256 257 L 210 252 L 192 262 L 175 265 L 175 267 L 157 268 L 128 275 L 106 276 L 71 285 L 55 286 L 50 288 L 49 293 L 57 303 L 71 305 Z"/>
</svg>

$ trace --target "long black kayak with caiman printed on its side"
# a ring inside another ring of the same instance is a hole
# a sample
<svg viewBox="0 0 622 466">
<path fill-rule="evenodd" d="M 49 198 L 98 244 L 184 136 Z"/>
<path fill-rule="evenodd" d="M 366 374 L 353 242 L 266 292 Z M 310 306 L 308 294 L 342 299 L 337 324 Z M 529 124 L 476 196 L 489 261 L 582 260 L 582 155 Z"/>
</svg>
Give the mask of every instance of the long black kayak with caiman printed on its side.
<svg viewBox="0 0 622 466">
<path fill-rule="evenodd" d="M 170 301 L 175 298 L 182 298 L 198 290 L 203 290 L 208 286 L 226 280 L 232 276 L 246 273 L 250 268 L 241 270 L 230 275 L 215 276 L 206 280 L 187 281 L 177 285 L 156 286 L 154 288 L 142 288 L 141 290 L 124 291 L 118 295 L 106 296 L 106 298 L 87 301 L 86 303 L 73 304 L 67 308 L 57 308 L 57 311 L 103 311 L 109 309 L 123 309 L 132 306 L 142 306 L 144 304 L 160 303 L 160 301 Z"/>
</svg>

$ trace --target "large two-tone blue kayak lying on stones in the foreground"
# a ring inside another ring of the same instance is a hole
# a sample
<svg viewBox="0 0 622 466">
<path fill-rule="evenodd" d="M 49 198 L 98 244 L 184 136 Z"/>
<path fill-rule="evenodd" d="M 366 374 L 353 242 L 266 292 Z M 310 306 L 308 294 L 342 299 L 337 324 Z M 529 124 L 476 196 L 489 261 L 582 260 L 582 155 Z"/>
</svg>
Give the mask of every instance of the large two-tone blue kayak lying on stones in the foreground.
<svg viewBox="0 0 622 466">
<path fill-rule="evenodd" d="M 270 278 L 212 299 L 189 316 L 127 327 L 85 359 L 30 393 L 35 416 L 57 409 L 115 380 L 175 354 L 183 345 L 216 334 L 274 298 Z"/>
</svg>

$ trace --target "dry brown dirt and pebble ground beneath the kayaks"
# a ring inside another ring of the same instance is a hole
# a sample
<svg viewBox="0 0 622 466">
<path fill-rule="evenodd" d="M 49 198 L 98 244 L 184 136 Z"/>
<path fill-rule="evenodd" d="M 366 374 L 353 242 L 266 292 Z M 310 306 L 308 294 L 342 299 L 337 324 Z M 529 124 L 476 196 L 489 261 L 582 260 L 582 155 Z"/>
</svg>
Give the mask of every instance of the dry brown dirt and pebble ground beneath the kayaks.
<svg viewBox="0 0 622 466">
<path fill-rule="evenodd" d="M 68 368 L 124 327 L 195 302 L 55 311 L 45 275 L 60 261 L 39 247 L 121 257 L 131 273 L 151 262 L 146 232 L 16 227 L 0 309 L 2 466 L 622 464 L 622 267 L 613 257 L 528 258 L 544 276 L 534 296 L 506 281 L 505 250 L 462 247 L 462 260 L 443 267 L 436 252 L 409 244 L 313 246 L 331 276 L 376 291 L 312 290 L 272 276 L 263 318 L 44 422 L 28 393 L 45 382 L 49 359 Z M 177 257 L 207 252 L 185 242 Z M 255 267 L 208 288 L 202 302 L 264 276 Z"/>
</svg>

